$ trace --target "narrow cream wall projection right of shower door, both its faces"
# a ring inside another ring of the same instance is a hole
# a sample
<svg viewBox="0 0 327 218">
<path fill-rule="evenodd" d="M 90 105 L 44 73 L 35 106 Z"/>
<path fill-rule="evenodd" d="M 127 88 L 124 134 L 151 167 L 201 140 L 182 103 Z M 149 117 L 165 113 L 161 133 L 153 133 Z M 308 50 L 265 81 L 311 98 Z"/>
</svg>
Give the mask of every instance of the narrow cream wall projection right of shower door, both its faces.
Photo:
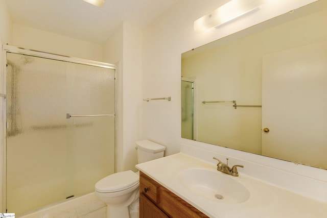
<svg viewBox="0 0 327 218">
<path fill-rule="evenodd" d="M 118 65 L 117 171 L 135 171 L 135 141 L 142 139 L 142 30 L 124 22 L 103 48 L 104 61 Z"/>
</svg>

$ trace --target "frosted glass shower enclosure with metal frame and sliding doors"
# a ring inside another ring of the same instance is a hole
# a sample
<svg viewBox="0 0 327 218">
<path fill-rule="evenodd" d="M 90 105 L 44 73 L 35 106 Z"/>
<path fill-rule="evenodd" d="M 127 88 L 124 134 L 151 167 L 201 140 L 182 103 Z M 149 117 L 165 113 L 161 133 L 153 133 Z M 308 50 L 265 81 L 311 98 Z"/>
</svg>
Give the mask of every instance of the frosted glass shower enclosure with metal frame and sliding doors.
<svg viewBox="0 0 327 218">
<path fill-rule="evenodd" d="M 3 209 L 94 191 L 115 172 L 115 65 L 4 45 Z"/>
</svg>

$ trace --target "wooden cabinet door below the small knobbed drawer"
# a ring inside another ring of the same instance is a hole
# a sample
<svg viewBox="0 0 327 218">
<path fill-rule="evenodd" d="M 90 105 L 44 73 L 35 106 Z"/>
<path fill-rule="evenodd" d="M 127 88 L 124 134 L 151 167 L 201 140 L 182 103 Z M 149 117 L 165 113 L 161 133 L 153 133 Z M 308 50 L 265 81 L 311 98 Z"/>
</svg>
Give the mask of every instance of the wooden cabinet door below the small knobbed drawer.
<svg viewBox="0 0 327 218">
<path fill-rule="evenodd" d="M 143 193 L 139 196 L 139 218 L 168 218 Z"/>
</svg>

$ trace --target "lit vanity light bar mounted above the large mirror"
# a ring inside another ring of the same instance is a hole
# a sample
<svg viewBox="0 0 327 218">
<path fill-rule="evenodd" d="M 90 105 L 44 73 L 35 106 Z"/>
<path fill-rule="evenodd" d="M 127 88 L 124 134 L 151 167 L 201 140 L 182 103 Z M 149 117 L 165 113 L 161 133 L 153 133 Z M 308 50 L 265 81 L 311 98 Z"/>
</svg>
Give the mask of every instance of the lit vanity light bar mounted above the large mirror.
<svg viewBox="0 0 327 218">
<path fill-rule="evenodd" d="M 85 1 L 85 0 L 84 0 Z M 231 0 L 211 13 L 194 21 L 194 31 L 203 32 L 236 19 L 265 4 L 266 0 Z"/>
</svg>

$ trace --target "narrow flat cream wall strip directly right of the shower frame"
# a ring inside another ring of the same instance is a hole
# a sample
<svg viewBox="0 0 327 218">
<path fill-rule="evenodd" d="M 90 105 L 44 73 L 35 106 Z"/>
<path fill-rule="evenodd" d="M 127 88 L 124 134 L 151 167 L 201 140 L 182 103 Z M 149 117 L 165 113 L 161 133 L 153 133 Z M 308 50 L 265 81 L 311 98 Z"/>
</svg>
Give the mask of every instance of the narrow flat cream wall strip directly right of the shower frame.
<svg viewBox="0 0 327 218">
<path fill-rule="evenodd" d="M 123 38 L 123 165 L 135 169 L 135 141 L 141 138 L 142 124 L 142 30 L 124 22 Z"/>
</svg>

